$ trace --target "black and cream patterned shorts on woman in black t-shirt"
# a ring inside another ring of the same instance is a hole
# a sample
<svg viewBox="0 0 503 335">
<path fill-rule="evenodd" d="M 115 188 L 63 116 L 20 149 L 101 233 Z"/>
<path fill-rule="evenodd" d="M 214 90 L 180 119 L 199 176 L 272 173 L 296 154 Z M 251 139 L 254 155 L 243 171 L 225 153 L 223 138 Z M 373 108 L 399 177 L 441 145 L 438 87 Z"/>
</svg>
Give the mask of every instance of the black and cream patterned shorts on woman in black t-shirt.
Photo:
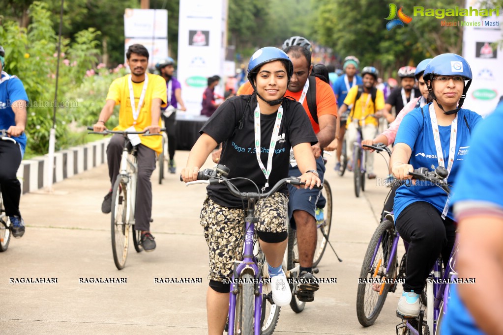
<svg viewBox="0 0 503 335">
<path fill-rule="evenodd" d="M 288 198 L 276 192 L 256 206 L 256 230 L 268 233 L 287 231 Z M 244 242 L 244 210 L 220 206 L 206 197 L 201 209 L 201 226 L 209 247 L 208 279 L 223 282 L 232 278 L 234 261 L 241 259 Z"/>
</svg>

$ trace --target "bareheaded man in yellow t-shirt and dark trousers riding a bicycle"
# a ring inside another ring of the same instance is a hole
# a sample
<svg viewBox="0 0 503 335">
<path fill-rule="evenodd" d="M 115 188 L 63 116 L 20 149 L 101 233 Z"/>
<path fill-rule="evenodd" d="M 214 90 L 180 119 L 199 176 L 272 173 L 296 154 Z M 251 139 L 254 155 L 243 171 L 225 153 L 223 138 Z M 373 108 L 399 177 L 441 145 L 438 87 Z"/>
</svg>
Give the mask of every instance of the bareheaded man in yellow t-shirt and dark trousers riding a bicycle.
<svg viewBox="0 0 503 335">
<path fill-rule="evenodd" d="M 126 52 L 127 64 L 131 74 L 115 79 L 110 85 L 107 101 L 98 122 L 96 132 L 106 129 L 105 123 L 112 116 L 114 106 L 120 105 L 119 125 L 114 130 L 126 130 L 134 127 L 150 134 L 160 131 L 160 107 L 166 106 L 166 82 L 161 76 L 146 73 L 148 51 L 141 44 L 133 44 Z M 131 97 L 134 96 L 134 101 Z M 134 106 L 133 106 L 134 103 Z M 152 214 L 152 184 L 150 176 L 155 169 L 157 154 L 162 152 L 161 136 L 140 136 L 138 144 L 138 184 L 136 190 L 135 229 L 141 231 L 140 243 L 145 251 L 155 249 L 155 241 L 150 234 Z M 114 135 L 107 147 L 108 171 L 112 187 L 119 174 L 124 138 Z M 105 196 L 101 210 L 110 213 L 112 207 L 112 189 Z"/>
</svg>

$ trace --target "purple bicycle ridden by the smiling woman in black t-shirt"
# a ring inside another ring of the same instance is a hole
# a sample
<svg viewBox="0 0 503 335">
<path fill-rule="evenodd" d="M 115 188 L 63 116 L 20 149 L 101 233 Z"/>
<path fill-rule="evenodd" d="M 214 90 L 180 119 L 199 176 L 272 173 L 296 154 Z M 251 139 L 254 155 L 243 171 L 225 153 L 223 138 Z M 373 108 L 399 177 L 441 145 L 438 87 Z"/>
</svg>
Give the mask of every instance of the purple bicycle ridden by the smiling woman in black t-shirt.
<svg viewBox="0 0 503 335">
<path fill-rule="evenodd" d="M 268 276 L 268 265 L 255 233 L 255 222 L 258 219 L 255 216 L 255 206 L 261 198 L 267 198 L 286 183 L 302 183 L 295 177 L 289 177 L 279 180 L 267 193 L 241 193 L 226 178 L 228 172 L 226 166 L 218 164 L 215 170 L 204 169 L 199 172 L 198 180 L 186 183 L 188 186 L 225 183 L 231 194 L 247 201 L 242 260 L 234 262 L 225 329 L 229 334 L 272 334 L 278 323 L 281 307 L 274 304 L 271 284 L 264 280 Z"/>
</svg>

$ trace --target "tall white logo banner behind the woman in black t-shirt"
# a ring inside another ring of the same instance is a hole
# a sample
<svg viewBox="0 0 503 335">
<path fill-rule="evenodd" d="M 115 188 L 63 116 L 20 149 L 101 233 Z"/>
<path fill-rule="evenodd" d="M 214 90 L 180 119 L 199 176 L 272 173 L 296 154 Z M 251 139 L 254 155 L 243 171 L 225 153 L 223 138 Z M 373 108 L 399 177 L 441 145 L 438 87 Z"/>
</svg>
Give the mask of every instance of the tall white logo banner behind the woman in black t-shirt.
<svg viewBox="0 0 503 335">
<path fill-rule="evenodd" d="M 180 2 L 177 75 L 186 115 L 201 114 L 207 78 L 223 76 L 226 13 L 226 0 Z"/>
</svg>

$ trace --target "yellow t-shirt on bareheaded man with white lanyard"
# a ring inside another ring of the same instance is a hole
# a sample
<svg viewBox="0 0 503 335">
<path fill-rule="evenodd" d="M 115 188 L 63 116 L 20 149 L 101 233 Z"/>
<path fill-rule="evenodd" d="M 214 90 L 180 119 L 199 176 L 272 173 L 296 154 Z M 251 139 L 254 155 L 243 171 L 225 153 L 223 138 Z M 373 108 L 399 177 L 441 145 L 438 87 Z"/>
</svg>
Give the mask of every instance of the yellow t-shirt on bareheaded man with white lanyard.
<svg viewBox="0 0 503 335">
<path fill-rule="evenodd" d="M 140 108 L 140 113 L 138 114 L 138 119 L 136 119 L 136 124 L 134 128 L 136 131 L 141 132 L 145 127 L 152 124 L 152 99 L 161 99 L 161 107 L 166 106 L 167 94 L 166 94 L 166 81 L 161 76 L 156 74 L 148 75 L 148 85 L 145 91 L 145 98 L 143 99 L 143 105 Z M 119 109 L 119 125 L 114 128 L 114 130 L 126 130 L 133 126 L 133 109 L 131 108 L 131 99 L 129 97 L 129 74 L 124 77 L 115 79 L 107 94 L 107 100 L 114 100 L 115 104 L 120 105 Z M 143 82 L 134 83 L 133 82 L 133 92 L 134 92 L 134 104 L 138 106 L 140 101 L 141 91 L 143 90 Z M 137 107 L 138 108 L 138 107 Z M 159 118 L 159 126 L 160 118 Z M 162 152 L 162 137 L 161 136 L 141 136 L 141 144 L 156 151 L 157 153 Z"/>
</svg>

